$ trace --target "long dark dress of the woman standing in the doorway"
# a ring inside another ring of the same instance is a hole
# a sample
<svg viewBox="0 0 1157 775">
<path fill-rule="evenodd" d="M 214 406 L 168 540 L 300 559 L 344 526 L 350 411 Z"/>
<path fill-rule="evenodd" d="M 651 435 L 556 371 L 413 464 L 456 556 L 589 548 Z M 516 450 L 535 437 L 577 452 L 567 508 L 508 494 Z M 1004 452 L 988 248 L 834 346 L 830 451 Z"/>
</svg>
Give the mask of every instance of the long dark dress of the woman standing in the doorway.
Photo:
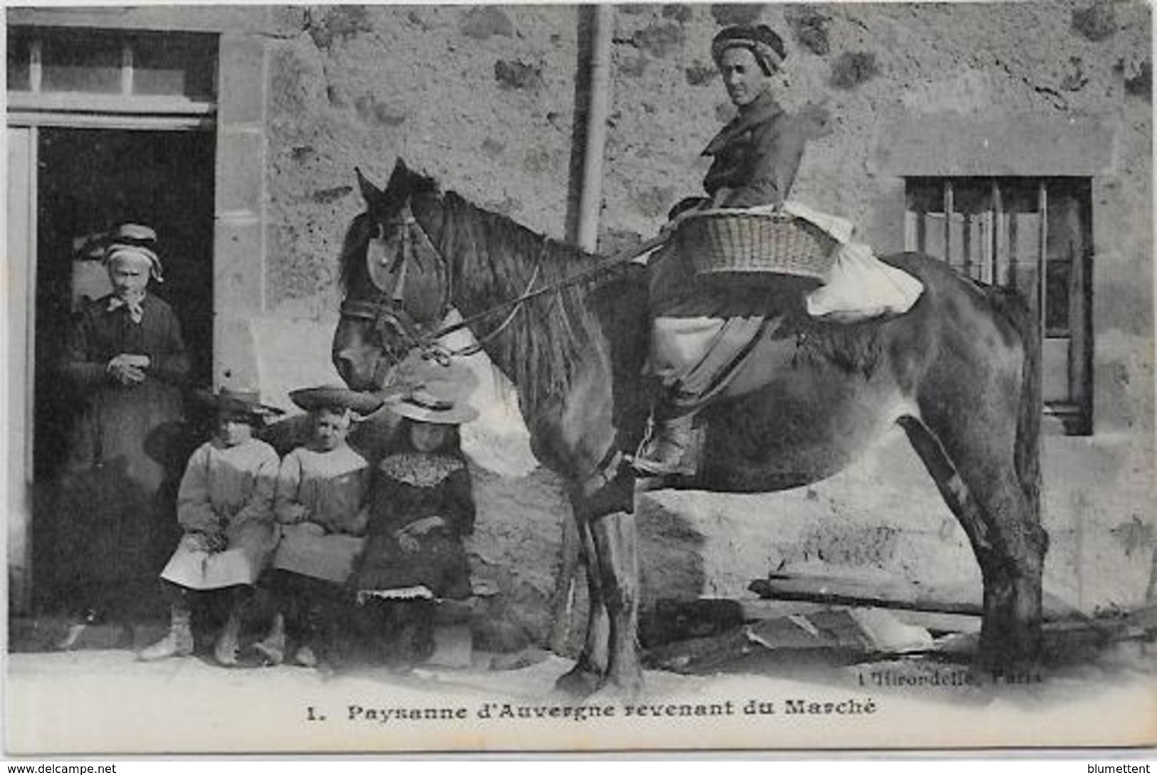
<svg viewBox="0 0 1157 775">
<path fill-rule="evenodd" d="M 155 583 L 171 551 L 174 440 L 184 419 L 189 355 L 172 308 L 146 294 L 140 323 L 110 297 L 89 302 L 69 331 L 60 372 L 83 407 L 68 436 L 57 493 L 57 581 L 91 597 L 94 585 Z M 121 354 L 148 355 L 145 381 L 121 385 L 106 372 Z M 90 600 L 91 601 L 91 600 Z M 93 601 L 96 603 L 96 601 Z"/>
</svg>

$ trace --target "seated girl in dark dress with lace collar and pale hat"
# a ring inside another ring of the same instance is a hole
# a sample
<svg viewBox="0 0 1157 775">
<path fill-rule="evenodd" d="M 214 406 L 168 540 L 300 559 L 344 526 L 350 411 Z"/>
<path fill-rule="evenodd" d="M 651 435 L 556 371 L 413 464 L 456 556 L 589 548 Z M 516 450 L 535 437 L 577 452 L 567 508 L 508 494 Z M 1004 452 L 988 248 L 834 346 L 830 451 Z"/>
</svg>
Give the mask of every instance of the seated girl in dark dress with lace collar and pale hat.
<svg viewBox="0 0 1157 775">
<path fill-rule="evenodd" d="M 472 593 L 462 537 L 473 532 L 474 501 L 458 426 L 478 412 L 456 393 L 451 382 L 432 382 L 391 405 L 403 421 L 373 486 L 366 548 L 351 578 L 359 598 Z M 428 645 L 433 613 L 428 599 L 407 607 L 404 651 Z"/>
</svg>

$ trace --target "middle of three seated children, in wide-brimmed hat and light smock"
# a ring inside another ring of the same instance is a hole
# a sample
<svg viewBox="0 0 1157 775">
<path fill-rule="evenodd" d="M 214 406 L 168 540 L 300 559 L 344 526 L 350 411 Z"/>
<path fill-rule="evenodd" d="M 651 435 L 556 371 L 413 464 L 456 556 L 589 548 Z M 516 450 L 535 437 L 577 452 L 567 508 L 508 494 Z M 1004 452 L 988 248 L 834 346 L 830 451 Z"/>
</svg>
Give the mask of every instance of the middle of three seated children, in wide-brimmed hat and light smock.
<svg viewBox="0 0 1157 775">
<path fill-rule="evenodd" d="M 331 385 L 296 390 L 289 398 L 310 413 L 314 436 L 286 456 L 278 474 L 273 510 L 281 542 L 271 577 L 277 613 L 270 634 L 253 648 L 279 665 L 288 636 L 293 660 L 312 667 L 323 605 L 337 605 L 327 592 L 341 589 L 364 544 L 370 468 L 346 436 L 353 414 L 373 414 L 382 399 Z"/>
</svg>

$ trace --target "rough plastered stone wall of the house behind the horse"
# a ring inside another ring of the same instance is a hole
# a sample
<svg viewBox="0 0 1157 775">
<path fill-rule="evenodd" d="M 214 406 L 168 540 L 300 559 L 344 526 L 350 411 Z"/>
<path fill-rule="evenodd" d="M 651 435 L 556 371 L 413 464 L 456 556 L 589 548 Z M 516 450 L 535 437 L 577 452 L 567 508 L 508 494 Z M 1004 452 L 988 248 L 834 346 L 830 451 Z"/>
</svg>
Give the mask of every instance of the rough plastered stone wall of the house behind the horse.
<svg viewBox="0 0 1157 775">
<path fill-rule="evenodd" d="M 336 320 L 341 234 L 361 208 L 355 165 L 384 182 L 400 155 L 445 187 L 565 237 L 587 44 L 582 14 L 569 6 L 280 13 L 281 31 L 266 42 L 266 319 L 257 337 L 263 362 L 280 364 L 274 393 L 290 375 L 332 375 L 324 342 Z M 958 158 L 960 174 L 987 164 L 990 174 L 1041 175 L 1070 169 L 1074 156 L 1085 163 L 1079 145 L 1066 146 L 1064 127 L 1096 125 L 1069 132 L 1098 139 L 1090 152 L 1099 160 L 1095 435 L 1046 440 L 1047 577 L 1086 610 L 1137 603 L 1150 575 L 1155 494 L 1148 7 L 620 6 L 604 250 L 650 236 L 672 204 L 699 190 L 706 160 L 698 154 L 731 115 L 709 40 L 723 24 L 757 20 L 789 49 L 779 98 L 811 118 L 795 195 L 854 219 L 879 249 L 902 245 L 901 176 L 919 161 L 897 136 L 943 149 L 941 161 Z M 897 126 L 908 134 L 889 128 Z M 1033 154 L 970 156 L 961 136 L 978 126 L 993 142 Z M 1038 134 L 1040 126 L 1052 128 Z M 1029 156 L 1044 169 L 1018 169 Z M 317 352 L 300 348 L 304 334 L 282 325 L 289 320 L 315 332 Z M 481 446 L 514 444 L 515 457 L 525 455 L 508 425 L 479 434 L 488 440 Z M 480 568 L 522 590 L 511 611 L 525 613 L 518 627 L 541 636 L 563 501 L 552 477 L 530 475 L 484 475 L 472 548 Z M 737 595 L 772 567 L 803 562 L 979 585 L 959 526 L 900 434 L 811 488 L 742 499 L 661 494 L 639 518 L 648 599 Z"/>
</svg>

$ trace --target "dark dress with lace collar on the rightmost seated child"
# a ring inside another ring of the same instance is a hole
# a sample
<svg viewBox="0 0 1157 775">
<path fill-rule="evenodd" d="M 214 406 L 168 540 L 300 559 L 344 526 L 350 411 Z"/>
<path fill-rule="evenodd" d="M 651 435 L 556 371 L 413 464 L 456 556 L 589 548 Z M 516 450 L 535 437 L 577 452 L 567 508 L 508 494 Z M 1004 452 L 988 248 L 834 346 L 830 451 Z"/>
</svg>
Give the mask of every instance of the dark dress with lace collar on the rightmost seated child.
<svg viewBox="0 0 1157 775">
<path fill-rule="evenodd" d="M 415 536 L 405 552 L 398 530 L 439 516 L 445 526 Z M 462 537 L 473 532 L 474 499 L 470 471 L 457 456 L 398 452 L 382 460 L 370 493 L 366 548 L 354 566 L 355 590 L 395 590 L 419 584 L 436 597 L 470 597 L 470 562 Z"/>
</svg>

